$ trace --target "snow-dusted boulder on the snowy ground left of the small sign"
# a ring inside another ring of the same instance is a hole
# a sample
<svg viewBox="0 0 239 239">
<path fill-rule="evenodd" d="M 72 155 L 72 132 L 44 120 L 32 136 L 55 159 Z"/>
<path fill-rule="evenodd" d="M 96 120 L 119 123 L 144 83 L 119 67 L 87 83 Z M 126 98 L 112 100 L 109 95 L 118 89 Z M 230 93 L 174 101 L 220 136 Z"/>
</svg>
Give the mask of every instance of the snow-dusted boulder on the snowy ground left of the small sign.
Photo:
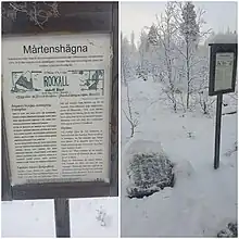
<svg viewBox="0 0 239 239">
<path fill-rule="evenodd" d="M 143 198 L 165 187 L 174 187 L 173 163 L 164 153 L 137 153 L 127 167 L 129 198 Z"/>
</svg>

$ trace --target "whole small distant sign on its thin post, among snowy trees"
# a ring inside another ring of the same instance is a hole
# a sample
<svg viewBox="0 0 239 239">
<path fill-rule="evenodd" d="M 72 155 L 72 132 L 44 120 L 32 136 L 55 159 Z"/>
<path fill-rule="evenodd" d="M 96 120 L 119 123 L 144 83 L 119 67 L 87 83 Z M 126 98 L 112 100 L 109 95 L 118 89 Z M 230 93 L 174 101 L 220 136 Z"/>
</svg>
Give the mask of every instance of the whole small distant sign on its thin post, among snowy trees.
<svg viewBox="0 0 239 239">
<path fill-rule="evenodd" d="M 216 99 L 214 168 L 219 167 L 223 95 L 235 91 L 237 74 L 237 43 L 210 43 L 209 96 Z"/>
</svg>

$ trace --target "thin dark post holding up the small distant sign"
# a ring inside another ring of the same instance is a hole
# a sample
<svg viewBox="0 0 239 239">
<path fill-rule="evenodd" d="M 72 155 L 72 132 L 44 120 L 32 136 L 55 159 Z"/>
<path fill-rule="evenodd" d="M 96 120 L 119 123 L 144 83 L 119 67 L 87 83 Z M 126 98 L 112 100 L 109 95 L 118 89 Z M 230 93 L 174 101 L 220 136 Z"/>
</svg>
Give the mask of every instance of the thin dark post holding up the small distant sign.
<svg viewBox="0 0 239 239">
<path fill-rule="evenodd" d="M 214 168 L 215 169 L 219 167 L 222 104 L 223 104 L 223 93 L 219 93 L 217 95 L 217 99 L 216 99 L 216 126 L 215 126 L 215 152 L 214 152 Z"/>
</svg>

